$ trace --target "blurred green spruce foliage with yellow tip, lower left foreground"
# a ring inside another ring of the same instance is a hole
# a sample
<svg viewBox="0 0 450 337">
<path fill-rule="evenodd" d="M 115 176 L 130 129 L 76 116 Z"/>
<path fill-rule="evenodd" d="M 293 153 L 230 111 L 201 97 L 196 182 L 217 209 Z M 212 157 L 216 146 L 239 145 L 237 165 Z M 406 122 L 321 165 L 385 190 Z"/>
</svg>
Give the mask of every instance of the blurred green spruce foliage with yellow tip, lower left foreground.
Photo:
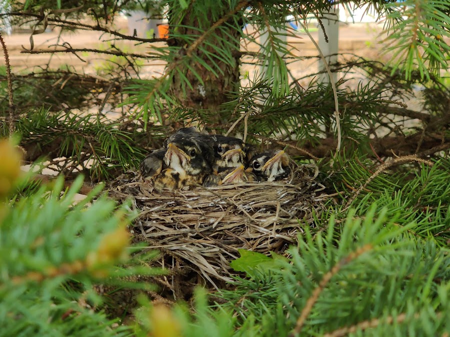
<svg viewBox="0 0 450 337">
<path fill-rule="evenodd" d="M 2 154 L 9 151 L 1 148 Z M 7 182 L 16 184 L 15 189 L 29 186 L 28 177 L 6 180 L 11 177 L 6 168 L 15 165 L 8 158 L 1 163 L 2 187 Z M 133 262 L 128 257 L 128 207 L 117 208 L 98 196 L 101 185 L 75 202 L 81 184 L 80 176 L 63 190 L 59 178 L 53 186 L 10 195 L 9 201 L 0 196 L 0 336 L 129 335 L 124 326 L 111 329 L 117 320 L 94 310 L 103 300 L 93 286 L 101 282 L 145 289 L 147 285 L 124 278 L 155 270 L 142 267 L 144 258 Z M 126 267 L 115 266 L 123 262 Z"/>
</svg>

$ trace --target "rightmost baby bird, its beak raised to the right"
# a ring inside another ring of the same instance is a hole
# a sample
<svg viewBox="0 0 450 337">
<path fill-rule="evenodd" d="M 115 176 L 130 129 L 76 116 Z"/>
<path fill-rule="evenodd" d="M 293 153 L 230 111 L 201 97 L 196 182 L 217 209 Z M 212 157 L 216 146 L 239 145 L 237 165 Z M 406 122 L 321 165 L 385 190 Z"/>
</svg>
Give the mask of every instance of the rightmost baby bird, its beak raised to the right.
<svg viewBox="0 0 450 337">
<path fill-rule="evenodd" d="M 259 181 L 276 181 L 289 176 L 289 156 L 283 150 L 269 150 L 254 156 L 250 168 Z"/>
</svg>

